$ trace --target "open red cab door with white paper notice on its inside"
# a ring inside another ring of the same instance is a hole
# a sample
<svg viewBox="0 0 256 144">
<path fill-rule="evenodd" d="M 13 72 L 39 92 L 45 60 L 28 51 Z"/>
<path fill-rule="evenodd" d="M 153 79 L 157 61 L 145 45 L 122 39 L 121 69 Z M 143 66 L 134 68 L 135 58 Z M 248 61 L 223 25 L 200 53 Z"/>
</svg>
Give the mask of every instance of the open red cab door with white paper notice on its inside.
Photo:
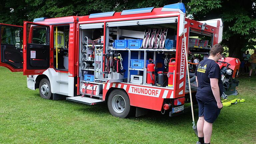
<svg viewBox="0 0 256 144">
<path fill-rule="evenodd" d="M 23 75 L 39 75 L 50 67 L 50 26 L 24 22 Z"/>
</svg>

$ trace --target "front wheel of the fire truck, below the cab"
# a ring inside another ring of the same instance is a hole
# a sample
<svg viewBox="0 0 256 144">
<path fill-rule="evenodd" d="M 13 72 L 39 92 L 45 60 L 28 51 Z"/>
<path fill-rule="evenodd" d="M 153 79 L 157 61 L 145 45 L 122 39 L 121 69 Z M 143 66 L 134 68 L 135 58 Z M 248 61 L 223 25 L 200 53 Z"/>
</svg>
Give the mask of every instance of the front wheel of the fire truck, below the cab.
<svg viewBox="0 0 256 144">
<path fill-rule="evenodd" d="M 51 84 L 47 78 L 43 78 L 40 81 L 39 94 L 44 99 L 52 99 Z"/>
</svg>

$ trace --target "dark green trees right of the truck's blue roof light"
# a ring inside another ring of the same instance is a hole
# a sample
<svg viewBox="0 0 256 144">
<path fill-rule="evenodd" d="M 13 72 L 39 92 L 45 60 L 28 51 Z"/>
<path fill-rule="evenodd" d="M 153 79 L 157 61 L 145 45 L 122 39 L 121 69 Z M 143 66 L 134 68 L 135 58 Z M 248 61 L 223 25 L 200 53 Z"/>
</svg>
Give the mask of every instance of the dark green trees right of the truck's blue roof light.
<svg viewBox="0 0 256 144">
<path fill-rule="evenodd" d="M 254 0 L 191 0 L 188 11 L 195 20 L 221 18 L 222 45 L 229 48 L 230 57 L 242 57 L 242 51 L 255 49 L 256 5 Z"/>
</svg>

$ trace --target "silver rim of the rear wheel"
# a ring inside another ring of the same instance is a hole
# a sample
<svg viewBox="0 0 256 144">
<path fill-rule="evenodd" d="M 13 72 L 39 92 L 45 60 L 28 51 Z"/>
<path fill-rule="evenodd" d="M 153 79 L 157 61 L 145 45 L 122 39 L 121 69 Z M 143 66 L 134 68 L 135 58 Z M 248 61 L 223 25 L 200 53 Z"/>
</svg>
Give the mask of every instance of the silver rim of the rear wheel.
<svg viewBox="0 0 256 144">
<path fill-rule="evenodd" d="M 117 113 L 122 113 L 125 109 L 125 100 L 121 95 L 115 95 L 112 99 L 112 108 Z"/>
</svg>

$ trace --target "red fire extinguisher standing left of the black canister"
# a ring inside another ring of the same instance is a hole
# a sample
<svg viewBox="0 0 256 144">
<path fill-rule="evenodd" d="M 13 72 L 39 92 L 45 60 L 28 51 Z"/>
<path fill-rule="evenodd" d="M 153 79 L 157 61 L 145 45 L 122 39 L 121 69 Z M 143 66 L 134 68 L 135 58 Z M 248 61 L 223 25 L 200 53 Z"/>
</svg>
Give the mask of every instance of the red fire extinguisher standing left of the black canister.
<svg viewBox="0 0 256 144">
<path fill-rule="evenodd" d="M 155 84 L 155 64 L 152 59 L 149 59 L 149 64 L 147 65 L 147 84 Z"/>
</svg>

